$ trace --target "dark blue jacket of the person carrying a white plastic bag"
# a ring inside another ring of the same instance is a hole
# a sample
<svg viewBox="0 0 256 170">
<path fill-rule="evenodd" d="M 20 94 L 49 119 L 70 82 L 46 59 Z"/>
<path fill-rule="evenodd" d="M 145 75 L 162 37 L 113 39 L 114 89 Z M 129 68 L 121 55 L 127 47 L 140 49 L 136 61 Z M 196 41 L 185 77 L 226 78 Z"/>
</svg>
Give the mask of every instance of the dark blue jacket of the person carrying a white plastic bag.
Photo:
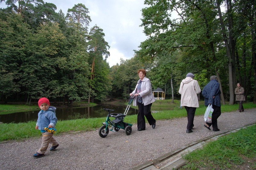
<svg viewBox="0 0 256 170">
<path fill-rule="evenodd" d="M 202 91 L 202 95 L 204 96 L 204 105 L 208 106 L 209 104 L 220 107 L 220 84 L 217 80 L 211 80 Z M 213 99 L 213 96 L 215 98 Z"/>
</svg>

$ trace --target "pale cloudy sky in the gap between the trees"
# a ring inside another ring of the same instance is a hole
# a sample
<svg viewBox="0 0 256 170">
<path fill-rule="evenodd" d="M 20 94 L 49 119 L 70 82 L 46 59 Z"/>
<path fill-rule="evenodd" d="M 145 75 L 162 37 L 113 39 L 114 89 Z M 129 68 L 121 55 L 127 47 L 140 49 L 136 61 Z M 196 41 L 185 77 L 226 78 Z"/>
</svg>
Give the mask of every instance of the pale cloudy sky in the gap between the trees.
<svg viewBox="0 0 256 170">
<path fill-rule="evenodd" d="M 145 8 L 144 0 L 44 0 L 56 5 L 66 15 L 68 9 L 75 4 L 84 4 L 89 10 L 92 26 L 99 26 L 105 33 L 110 56 L 107 58 L 109 66 L 120 64 L 120 58 L 126 60 L 134 56 L 133 50 L 138 50 L 140 42 L 146 40 L 141 24 L 141 9 Z M 4 8 L 5 2 L 0 4 Z"/>
</svg>

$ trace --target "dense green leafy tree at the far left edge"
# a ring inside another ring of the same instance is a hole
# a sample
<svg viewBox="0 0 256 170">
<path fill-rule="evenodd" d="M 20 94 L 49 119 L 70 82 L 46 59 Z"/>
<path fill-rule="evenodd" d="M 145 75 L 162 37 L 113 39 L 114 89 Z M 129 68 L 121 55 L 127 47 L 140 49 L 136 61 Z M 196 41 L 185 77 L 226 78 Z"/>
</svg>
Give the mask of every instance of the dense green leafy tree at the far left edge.
<svg viewBox="0 0 256 170">
<path fill-rule="evenodd" d="M 0 18 L 0 75 L 1 92 L 7 97 L 20 92 L 19 67 L 28 45 L 31 32 L 22 17 L 11 13 L 6 21 Z"/>
</svg>

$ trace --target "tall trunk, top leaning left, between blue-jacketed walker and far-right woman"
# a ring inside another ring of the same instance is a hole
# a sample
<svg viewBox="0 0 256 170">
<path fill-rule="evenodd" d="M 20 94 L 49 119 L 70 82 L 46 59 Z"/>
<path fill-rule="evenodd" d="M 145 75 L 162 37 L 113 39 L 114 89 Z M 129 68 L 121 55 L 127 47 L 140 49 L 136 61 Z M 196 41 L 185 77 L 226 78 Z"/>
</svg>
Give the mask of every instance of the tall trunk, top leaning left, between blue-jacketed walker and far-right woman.
<svg viewBox="0 0 256 170">
<path fill-rule="evenodd" d="M 221 31 L 222 31 L 222 36 L 223 36 L 223 41 L 225 42 L 225 46 L 226 46 L 226 51 L 227 51 L 227 56 L 228 56 L 228 84 L 229 84 L 229 104 L 233 105 L 234 104 L 234 88 L 233 88 L 233 74 L 232 74 L 232 56 L 230 54 L 230 49 L 228 46 L 228 39 L 225 33 L 225 27 L 223 24 L 223 20 L 222 20 L 222 14 L 221 14 L 221 10 L 220 10 L 220 2 L 217 0 L 217 8 L 218 8 L 218 12 L 219 12 L 219 17 L 220 17 L 220 26 L 221 26 Z"/>
</svg>

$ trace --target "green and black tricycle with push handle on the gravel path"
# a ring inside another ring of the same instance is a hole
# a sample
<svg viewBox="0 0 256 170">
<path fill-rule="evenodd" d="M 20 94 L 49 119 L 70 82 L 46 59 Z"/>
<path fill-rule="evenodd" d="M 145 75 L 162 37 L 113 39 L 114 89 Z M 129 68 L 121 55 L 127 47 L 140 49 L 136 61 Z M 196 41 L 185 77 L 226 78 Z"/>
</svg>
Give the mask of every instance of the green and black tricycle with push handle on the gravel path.
<svg viewBox="0 0 256 170">
<path fill-rule="evenodd" d="M 117 132 L 120 129 L 124 129 L 126 135 L 131 135 L 131 133 L 132 133 L 132 124 L 131 123 L 125 123 L 124 122 L 124 117 L 126 116 L 128 110 L 129 110 L 129 108 L 132 104 L 133 99 L 134 99 L 134 96 L 129 97 L 128 106 L 126 107 L 126 109 L 124 111 L 124 114 L 122 114 L 122 113 L 111 113 L 110 114 L 110 111 L 115 111 L 115 110 L 111 110 L 111 109 L 107 109 L 107 108 L 103 109 L 103 110 L 106 110 L 108 112 L 108 115 L 107 115 L 106 122 L 103 122 L 102 123 L 103 126 L 101 126 L 100 129 L 99 129 L 100 137 L 107 137 L 108 132 L 109 132 L 108 126 L 112 127 L 112 129 L 110 129 L 110 131 L 116 131 Z M 115 119 L 110 120 L 110 117 L 114 117 Z"/>
</svg>

